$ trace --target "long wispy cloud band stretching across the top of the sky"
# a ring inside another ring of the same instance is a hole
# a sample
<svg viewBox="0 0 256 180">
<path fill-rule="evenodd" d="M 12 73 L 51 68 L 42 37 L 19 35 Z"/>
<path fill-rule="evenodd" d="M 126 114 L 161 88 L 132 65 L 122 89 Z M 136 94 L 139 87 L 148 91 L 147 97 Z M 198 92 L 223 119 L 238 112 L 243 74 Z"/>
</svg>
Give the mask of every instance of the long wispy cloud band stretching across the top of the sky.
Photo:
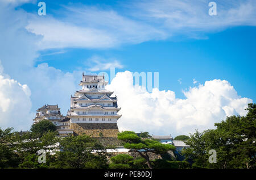
<svg viewBox="0 0 256 180">
<path fill-rule="evenodd" d="M 73 4 L 62 6 L 54 16 L 30 15 L 27 30 L 42 36 L 40 49 L 113 48 L 179 35 L 200 39 L 228 27 L 256 26 L 256 1 L 214 2 L 217 16 L 208 14 L 206 0 L 131 1 L 123 11 Z"/>
</svg>

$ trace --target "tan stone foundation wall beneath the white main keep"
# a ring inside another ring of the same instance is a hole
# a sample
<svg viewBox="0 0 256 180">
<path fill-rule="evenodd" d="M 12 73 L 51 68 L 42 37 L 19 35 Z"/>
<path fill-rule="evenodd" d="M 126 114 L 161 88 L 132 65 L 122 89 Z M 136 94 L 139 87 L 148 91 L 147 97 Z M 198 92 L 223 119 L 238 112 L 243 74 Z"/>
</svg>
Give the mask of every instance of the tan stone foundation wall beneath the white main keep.
<svg viewBox="0 0 256 180">
<path fill-rule="evenodd" d="M 71 123 L 70 128 L 74 130 L 74 135 L 90 135 L 91 137 L 117 137 L 117 123 Z"/>
</svg>

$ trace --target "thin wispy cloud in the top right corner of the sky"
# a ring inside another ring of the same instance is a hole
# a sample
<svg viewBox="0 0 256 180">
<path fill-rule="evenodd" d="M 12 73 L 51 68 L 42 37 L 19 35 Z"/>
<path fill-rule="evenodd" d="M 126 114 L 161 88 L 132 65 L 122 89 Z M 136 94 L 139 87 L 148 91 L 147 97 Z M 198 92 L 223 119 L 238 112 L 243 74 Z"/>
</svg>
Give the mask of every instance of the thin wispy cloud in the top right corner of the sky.
<svg viewBox="0 0 256 180">
<path fill-rule="evenodd" d="M 233 26 L 256 26 L 255 1 L 214 1 L 217 16 L 208 14 L 209 1 L 152 0 L 137 3 L 134 15 L 150 20 L 176 35 L 200 36 L 198 32 L 220 31 Z M 197 32 L 197 33 L 196 33 Z"/>
</svg>

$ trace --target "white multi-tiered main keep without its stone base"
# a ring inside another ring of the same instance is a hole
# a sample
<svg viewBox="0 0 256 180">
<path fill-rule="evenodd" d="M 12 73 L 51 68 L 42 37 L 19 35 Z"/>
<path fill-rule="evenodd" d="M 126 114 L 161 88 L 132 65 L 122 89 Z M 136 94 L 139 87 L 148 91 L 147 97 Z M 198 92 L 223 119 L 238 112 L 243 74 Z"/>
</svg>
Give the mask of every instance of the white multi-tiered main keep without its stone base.
<svg viewBox="0 0 256 180">
<path fill-rule="evenodd" d="M 71 96 L 71 108 L 68 117 L 71 123 L 117 123 L 121 117 L 117 112 L 117 97 L 110 97 L 113 91 L 105 86 L 104 76 L 85 76 L 82 74 L 81 90 Z"/>
</svg>

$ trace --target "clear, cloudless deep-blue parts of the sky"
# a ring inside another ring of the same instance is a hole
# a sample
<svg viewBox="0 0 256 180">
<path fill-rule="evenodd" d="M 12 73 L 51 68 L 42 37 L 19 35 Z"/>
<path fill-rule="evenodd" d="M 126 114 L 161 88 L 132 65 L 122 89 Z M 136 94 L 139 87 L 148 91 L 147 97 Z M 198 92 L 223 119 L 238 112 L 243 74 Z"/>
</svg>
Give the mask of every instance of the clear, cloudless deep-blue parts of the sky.
<svg viewBox="0 0 256 180">
<path fill-rule="evenodd" d="M 47 5 L 47 15 L 55 18 L 62 16 L 59 11 L 63 10 L 63 6 L 88 5 L 118 12 L 126 9 L 125 5 L 117 1 L 44 2 Z M 36 4 L 32 3 L 26 3 L 19 8 L 33 14 L 38 11 Z M 205 7 L 205 11 L 208 9 L 209 7 Z M 250 97 L 255 101 L 255 32 L 255 27 L 239 26 L 214 33 L 201 32 L 204 34 L 202 39 L 177 36 L 114 48 L 47 49 L 40 52 L 35 65 L 47 62 L 49 66 L 70 72 L 81 69 L 85 60 L 97 55 L 107 59 L 115 58 L 121 62 L 124 68 L 117 69 L 116 72 L 124 69 L 131 72 L 159 72 L 159 89 L 172 89 L 180 98 L 183 97 L 183 89 L 193 86 L 193 78 L 201 83 L 217 78 L 226 79 L 236 87 L 242 97 Z M 62 53 L 49 55 L 52 52 Z M 182 83 L 177 82 L 177 79 L 181 79 Z"/>
</svg>

